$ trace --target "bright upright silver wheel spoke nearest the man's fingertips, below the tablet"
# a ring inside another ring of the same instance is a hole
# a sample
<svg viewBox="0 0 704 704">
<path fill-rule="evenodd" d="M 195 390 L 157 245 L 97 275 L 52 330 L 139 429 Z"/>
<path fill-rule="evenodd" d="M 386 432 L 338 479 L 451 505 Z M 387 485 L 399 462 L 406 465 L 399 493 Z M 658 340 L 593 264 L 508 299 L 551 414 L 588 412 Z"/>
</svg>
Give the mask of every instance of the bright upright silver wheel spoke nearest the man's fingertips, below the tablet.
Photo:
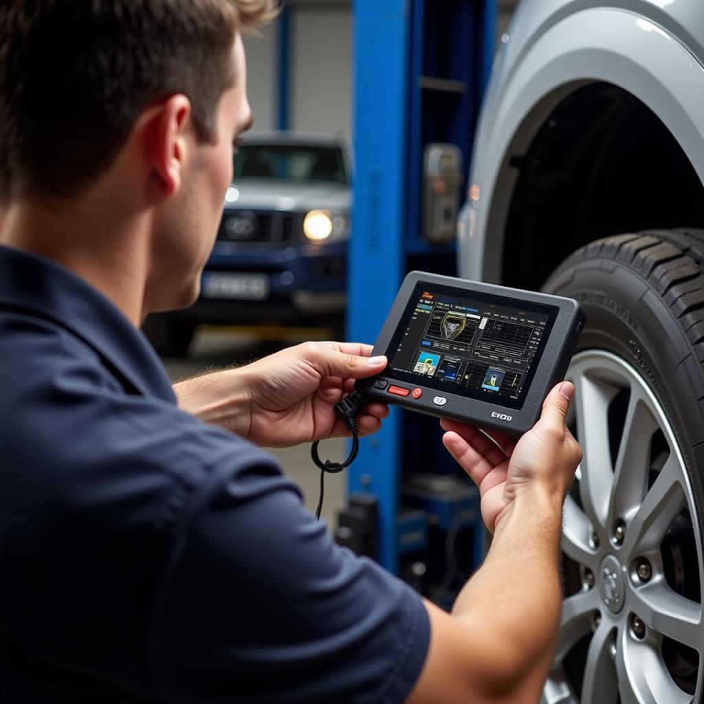
<svg viewBox="0 0 704 704">
<path fill-rule="evenodd" d="M 605 527 L 613 471 L 609 451 L 608 406 L 615 396 L 613 386 L 600 384 L 586 375 L 574 379 L 577 403 L 577 435 L 584 458 L 579 467 L 579 496 L 593 525 Z"/>
</svg>

